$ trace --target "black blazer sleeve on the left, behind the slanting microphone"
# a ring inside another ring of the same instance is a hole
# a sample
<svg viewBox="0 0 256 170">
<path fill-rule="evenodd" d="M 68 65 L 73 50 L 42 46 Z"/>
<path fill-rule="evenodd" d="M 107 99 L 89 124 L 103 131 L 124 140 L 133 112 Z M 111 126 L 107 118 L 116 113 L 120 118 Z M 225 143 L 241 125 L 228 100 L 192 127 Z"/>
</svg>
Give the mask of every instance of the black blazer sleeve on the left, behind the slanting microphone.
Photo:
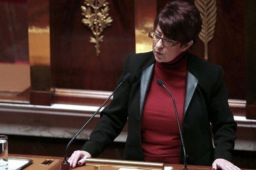
<svg viewBox="0 0 256 170">
<path fill-rule="evenodd" d="M 128 73 L 128 65 L 129 57 L 125 61 L 123 74 L 117 85 Z M 82 150 L 89 152 L 92 157 L 98 156 L 121 133 L 127 122 L 130 89 L 130 80 L 123 82 L 113 95 L 111 103 L 102 110 L 100 120 L 90 134 L 90 139 L 82 147 Z"/>
</svg>

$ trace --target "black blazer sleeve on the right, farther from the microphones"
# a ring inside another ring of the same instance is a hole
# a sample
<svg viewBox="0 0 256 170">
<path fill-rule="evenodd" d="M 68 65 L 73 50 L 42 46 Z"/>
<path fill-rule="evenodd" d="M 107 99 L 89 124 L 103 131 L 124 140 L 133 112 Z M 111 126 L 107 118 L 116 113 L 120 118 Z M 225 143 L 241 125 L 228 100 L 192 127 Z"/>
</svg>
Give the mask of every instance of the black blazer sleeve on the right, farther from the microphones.
<svg viewBox="0 0 256 170">
<path fill-rule="evenodd" d="M 210 119 L 215 145 L 214 159 L 232 160 L 232 151 L 236 139 L 236 122 L 228 105 L 227 89 L 224 84 L 224 73 L 219 69 L 210 94 Z"/>
</svg>

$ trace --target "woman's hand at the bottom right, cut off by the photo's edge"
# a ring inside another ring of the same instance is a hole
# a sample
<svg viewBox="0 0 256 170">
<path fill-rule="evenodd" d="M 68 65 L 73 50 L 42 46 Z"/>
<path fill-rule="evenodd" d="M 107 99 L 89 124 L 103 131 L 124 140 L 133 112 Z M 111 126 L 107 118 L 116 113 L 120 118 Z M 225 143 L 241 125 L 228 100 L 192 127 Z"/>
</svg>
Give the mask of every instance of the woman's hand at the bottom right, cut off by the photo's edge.
<svg viewBox="0 0 256 170">
<path fill-rule="evenodd" d="M 215 161 L 212 163 L 212 170 L 241 170 L 236 165 L 232 164 L 230 161 L 227 161 L 226 159 L 215 159 Z"/>
</svg>

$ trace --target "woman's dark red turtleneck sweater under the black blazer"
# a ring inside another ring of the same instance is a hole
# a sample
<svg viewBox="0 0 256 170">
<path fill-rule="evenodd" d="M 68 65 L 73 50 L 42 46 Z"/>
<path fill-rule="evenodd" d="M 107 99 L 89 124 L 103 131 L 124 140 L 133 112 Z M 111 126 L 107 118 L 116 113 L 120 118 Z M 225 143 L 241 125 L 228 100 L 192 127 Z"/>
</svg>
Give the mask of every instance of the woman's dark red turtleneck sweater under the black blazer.
<svg viewBox="0 0 256 170">
<path fill-rule="evenodd" d="M 174 106 L 167 91 L 157 85 L 157 79 L 162 79 L 174 96 L 182 126 L 187 72 L 185 53 L 177 56 L 172 62 L 155 64 L 141 122 L 145 161 L 180 163 L 180 133 Z"/>
</svg>

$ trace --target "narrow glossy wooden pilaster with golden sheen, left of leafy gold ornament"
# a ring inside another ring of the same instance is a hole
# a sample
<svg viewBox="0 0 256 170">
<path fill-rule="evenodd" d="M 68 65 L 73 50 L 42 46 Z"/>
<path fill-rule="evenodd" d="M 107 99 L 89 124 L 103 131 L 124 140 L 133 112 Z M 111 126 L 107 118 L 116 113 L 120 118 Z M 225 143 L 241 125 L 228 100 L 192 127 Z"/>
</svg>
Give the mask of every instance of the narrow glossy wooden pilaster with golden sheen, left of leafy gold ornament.
<svg viewBox="0 0 256 170">
<path fill-rule="evenodd" d="M 49 0 L 27 0 L 30 104 L 51 105 Z"/>
</svg>

